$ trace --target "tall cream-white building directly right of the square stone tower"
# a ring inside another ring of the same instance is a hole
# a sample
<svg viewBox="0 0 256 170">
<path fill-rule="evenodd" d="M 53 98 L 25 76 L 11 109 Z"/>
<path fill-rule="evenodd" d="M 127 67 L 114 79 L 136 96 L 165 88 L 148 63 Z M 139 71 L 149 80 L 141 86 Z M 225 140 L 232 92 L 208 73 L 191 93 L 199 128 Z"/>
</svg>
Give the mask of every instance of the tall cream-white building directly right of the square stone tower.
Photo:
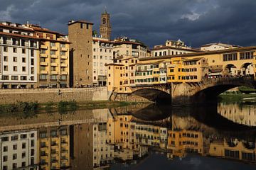
<svg viewBox="0 0 256 170">
<path fill-rule="evenodd" d="M 113 63 L 113 43 L 105 38 L 92 38 L 92 77 L 96 86 L 106 86 L 107 67 Z"/>
</svg>

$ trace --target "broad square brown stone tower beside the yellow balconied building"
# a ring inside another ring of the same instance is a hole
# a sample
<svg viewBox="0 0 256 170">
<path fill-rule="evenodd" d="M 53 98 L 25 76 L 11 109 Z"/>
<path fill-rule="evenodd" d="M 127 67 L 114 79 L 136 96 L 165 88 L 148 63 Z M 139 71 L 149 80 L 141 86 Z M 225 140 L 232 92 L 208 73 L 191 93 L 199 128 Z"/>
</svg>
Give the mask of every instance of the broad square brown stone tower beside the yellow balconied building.
<svg viewBox="0 0 256 170">
<path fill-rule="evenodd" d="M 70 21 L 70 85 L 92 85 L 92 25 L 88 21 Z"/>
</svg>

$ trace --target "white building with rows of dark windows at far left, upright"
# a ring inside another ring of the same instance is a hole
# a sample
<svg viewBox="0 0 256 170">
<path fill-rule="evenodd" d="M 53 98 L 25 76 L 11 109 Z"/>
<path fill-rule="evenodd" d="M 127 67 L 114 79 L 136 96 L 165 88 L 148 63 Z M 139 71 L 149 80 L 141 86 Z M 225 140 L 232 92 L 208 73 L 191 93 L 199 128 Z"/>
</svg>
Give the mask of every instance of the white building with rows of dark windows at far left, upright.
<svg viewBox="0 0 256 170">
<path fill-rule="evenodd" d="M 0 23 L 1 88 L 33 88 L 37 82 L 39 39 L 18 23 Z"/>
</svg>

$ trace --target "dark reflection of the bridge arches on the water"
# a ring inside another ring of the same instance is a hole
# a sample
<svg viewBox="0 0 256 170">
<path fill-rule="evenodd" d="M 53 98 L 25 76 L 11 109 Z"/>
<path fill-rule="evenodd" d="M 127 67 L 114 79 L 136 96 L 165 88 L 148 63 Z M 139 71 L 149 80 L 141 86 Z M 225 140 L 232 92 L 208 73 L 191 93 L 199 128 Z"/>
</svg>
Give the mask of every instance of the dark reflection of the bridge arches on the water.
<svg viewBox="0 0 256 170">
<path fill-rule="evenodd" d="M 174 129 L 174 119 L 183 120 L 186 122 L 188 119 L 193 119 L 190 129 L 198 129 L 198 127 L 207 127 L 213 129 L 218 134 L 223 136 L 236 136 L 241 138 L 255 137 L 256 127 L 250 127 L 247 125 L 241 125 L 234 123 L 232 120 L 223 117 L 218 113 L 217 103 L 213 103 L 211 106 L 189 106 L 189 107 L 171 107 L 169 105 L 156 105 L 151 104 L 146 108 L 142 108 L 139 111 L 135 111 L 132 115 L 147 122 L 156 122 L 161 125 L 168 125 Z M 163 122 L 161 123 L 161 120 Z M 171 121 L 166 123 L 166 121 Z"/>
</svg>

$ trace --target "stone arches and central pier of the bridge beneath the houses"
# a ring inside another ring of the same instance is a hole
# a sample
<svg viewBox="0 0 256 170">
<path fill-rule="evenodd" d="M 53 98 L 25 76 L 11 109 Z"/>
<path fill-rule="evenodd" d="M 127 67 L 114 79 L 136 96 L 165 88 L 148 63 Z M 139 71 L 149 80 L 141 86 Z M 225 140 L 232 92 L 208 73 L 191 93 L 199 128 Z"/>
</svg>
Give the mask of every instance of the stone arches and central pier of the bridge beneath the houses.
<svg viewBox="0 0 256 170">
<path fill-rule="evenodd" d="M 221 77 L 191 83 L 168 83 L 131 87 L 132 94 L 150 101 L 171 105 L 196 104 L 212 101 L 216 96 L 237 86 L 255 88 L 254 77 Z"/>
</svg>

